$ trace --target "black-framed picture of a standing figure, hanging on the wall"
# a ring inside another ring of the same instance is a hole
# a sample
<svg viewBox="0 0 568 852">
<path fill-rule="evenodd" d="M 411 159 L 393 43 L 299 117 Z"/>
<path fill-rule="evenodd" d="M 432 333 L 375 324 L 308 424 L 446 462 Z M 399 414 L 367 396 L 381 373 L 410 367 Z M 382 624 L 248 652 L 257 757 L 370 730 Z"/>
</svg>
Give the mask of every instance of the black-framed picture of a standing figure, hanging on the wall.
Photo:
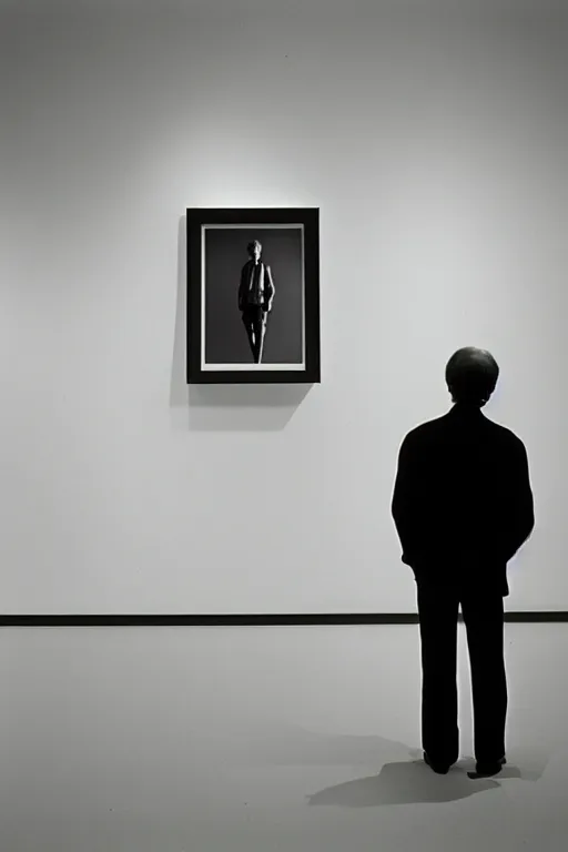
<svg viewBox="0 0 568 852">
<path fill-rule="evenodd" d="M 320 382 L 320 210 L 187 210 L 187 383 Z"/>
</svg>

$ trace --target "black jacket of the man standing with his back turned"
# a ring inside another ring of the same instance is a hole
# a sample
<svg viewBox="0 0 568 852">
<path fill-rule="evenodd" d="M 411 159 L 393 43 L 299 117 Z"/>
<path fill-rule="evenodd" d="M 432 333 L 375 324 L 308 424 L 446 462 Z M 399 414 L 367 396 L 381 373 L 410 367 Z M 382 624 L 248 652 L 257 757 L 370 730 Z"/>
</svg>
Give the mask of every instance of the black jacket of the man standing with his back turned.
<svg viewBox="0 0 568 852">
<path fill-rule="evenodd" d="M 497 585 L 535 526 L 525 445 L 456 404 L 403 440 L 392 501 L 402 560 L 417 580 Z"/>
</svg>

